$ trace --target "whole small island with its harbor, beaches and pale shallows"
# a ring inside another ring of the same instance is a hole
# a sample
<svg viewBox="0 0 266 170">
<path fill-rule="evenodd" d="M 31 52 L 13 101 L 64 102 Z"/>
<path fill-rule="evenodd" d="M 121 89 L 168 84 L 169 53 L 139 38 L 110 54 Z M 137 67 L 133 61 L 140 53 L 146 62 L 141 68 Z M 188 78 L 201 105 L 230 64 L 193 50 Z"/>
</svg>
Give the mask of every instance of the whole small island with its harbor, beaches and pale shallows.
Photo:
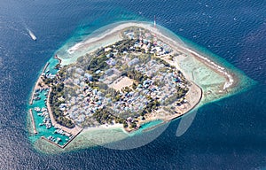
<svg viewBox="0 0 266 170">
<path fill-rule="evenodd" d="M 145 123 L 175 120 L 244 86 L 241 73 L 187 47 L 155 21 L 121 22 L 52 59 L 59 63 L 44 66 L 28 106 L 28 127 L 41 151 L 47 145 L 70 151 L 98 138 L 93 132 L 114 128 L 126 135 L 105 143 L 119 141 Z"/>
</svg>

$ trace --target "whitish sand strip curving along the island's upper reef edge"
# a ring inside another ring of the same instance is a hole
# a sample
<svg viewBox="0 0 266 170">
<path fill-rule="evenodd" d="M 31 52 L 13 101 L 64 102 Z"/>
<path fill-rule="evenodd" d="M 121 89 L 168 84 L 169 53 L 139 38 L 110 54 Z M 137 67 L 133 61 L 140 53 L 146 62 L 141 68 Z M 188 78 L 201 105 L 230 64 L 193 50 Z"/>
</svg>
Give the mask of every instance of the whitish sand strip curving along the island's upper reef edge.
<svg viewBox="0 0 266 170">
<path fill-rule="evenodd" d="M 238 84 L 238 81 L 235 82 L 236 76 L 232 75 L 231 73 L 228 73 L 228 71 L 223 67 L 220 66 L 219 64 L 215 63 L 215 61 L 211 60 L 210 58 L 207 58 L 206 56 L 200 54 L 199 51 L 192 50 L 190 47 L 186 47 L 185 44 L 182 44 L 182 42 L 177 42 L 176 40 L 173 40 L 172 38 L 168 37 L 167 35 L 163 35 L 162 31 L 158 28 L 154 28 L 151 23 L 145 23 L 145 22 L 121 22 L 119 25 L 107 29 L 105 31 L 104 35 L 100 35 L 99 37 L 92 37 L 87 40 L 84 40 L 82 42 L 76 43 L 74 46 L 70 47 L 67 52 L 69 54 L 73 54 L 75 51 L 81 51 L 84 50 L 90 45 L 92 45 L 94 42 L 98 41 L 103 41 L 103 42 L 108 42 L 108 40 L 113 39 L 113 42 L 118 41 L 115 39 L 118 35 L 120 36 L 121 30 L 126 28 L 126 27 L 143 27 L 147 30 L 149 30 L 152 34 L 156 35 L 159 39 L 162 40 L 162 42 L 168 43 L 169 46 L 171 46 L 174 50 L 177 51 L 182 51 L 184 53 L 189 53 L 191 54 L 194 58 L 200 60 L 200 62 L 204 63 L 206 66 L 214 70 L 216 73 L 219 73 L 223 75 L 228 81 L 224 83 L 223 85 L 223 90 L 229 89 L 231 87 L 235 87 Z M 120 37 L 121 39 L 121 37 Z M 92 52 L 94 50 L 97 50 L 98 48 L 91 49 L 88 52 Z M 86 52 L 86 53 L 88 53 Z M 60 57 L 59 57 L 60 58 Z M 62 63 L 64 64 L 64 58 L 60 58 L 62 60 Z M 66 60 L 68 60 L 67 58 Z M 182 70 L 181 70 L 182 71 Z M 191 81 L 191 80 L 190 80 Z"/>
</svg>

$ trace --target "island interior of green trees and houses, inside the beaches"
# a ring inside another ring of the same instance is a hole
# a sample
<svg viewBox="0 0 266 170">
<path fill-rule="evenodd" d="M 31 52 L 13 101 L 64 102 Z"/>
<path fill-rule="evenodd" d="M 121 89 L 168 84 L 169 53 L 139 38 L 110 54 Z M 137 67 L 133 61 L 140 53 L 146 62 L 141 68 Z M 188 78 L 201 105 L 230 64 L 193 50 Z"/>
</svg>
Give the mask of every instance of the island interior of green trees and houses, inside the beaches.
<svg viewBox="0 0 266 170">
<path fill-rule="evenodd" d="M 43 80 L 51 85 L 51 108 L 59 124 L 86 128 L 118 123 L 134 129 L 151 113 L 167 112 L 185 97 L 191 84 L 165 59 L 175 55 L 168 44 L 137 27 L 121 35 L 121 41 Z"/>
</svg>

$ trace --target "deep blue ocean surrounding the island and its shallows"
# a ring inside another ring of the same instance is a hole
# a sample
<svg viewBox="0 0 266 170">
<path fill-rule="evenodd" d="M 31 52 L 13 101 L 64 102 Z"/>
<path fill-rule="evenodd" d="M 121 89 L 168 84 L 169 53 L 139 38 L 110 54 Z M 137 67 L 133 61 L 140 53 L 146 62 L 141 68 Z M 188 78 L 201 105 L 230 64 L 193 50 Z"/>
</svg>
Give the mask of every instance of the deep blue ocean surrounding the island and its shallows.
<svg viewBox="0 0 266 170">
<path fill-rule="evenodd" d="M 54 52 L 106 24 L 153 21 L 154 15 L 160 26 L 226 59 L 257 84 L 201 107 L 180 137 L 180 120 L 175 120 L 137 149 L 96 147 L 58 155 L 35 151 L 28 139 L 26 107 Z M 264 0 L 0 0 L 0 169 L 266 168 L 265 67 Z"/>
</svg>

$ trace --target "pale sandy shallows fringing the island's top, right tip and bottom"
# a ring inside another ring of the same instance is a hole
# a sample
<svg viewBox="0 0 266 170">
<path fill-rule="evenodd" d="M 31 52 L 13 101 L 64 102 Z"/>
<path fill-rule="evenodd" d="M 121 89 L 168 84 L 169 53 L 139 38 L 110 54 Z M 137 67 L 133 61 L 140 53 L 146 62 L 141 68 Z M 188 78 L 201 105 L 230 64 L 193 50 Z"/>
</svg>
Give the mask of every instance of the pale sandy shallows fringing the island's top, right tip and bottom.
<svg viewBox="0 0 266 170">
<path fill-rule="evenodd" d="M 67 44 L 64 45 L 56 54 L 62 59 L 62 65 L 74 63 L 77 58 L 86 53 L 121 40 L 121 36 L 119 35 L 121 29 L 133 26 L 149 29 L 163 42 L 171 45 L 174 50 L 181 50 L 184 53 L 175 58 L 174 62 L 178 63 L 177 67 L 184 73 L 188 80 L 194 81 L 203 90 L 203 97 L 200 104 L 197 105 L 197 108 L 203 104 L 214 102 L 224 97 L 230 97 L 254 84 L 254 81 L 247 78 L 237 68 L 233 68 L 228 63 L 217 62 L 217 59 L 214 59 L 214 62 L 212 62 L 212 58 L 206 58 L 206 55 L 191 49 L 177 36 L 172 37 L 170 36 L 172 34 L 167 34 L 165 28 L 163 28 L 164 30 L 160 30 L 160 27 L 154 28 L 153 24 L 147 22 L 130 21 L 114 24 L 111 27 L 107 27 L 106 31 L 101 35 L 92 34 L 86 40 L 78 42 L 71 47 Z M 198 57 L 195 57 L 195 55 Z M 227 66 L 230 66 L 230 68 Z M 134 133 L 129 134 L 118 125 L 101 126 L 100 128 L 84 129 L 64 149 L 51 145 L 51 143 L 47 143 L 41 139 L 35 142 L 35 148 L 45 153 L 59 153 L 96 145 L 105 145 L 106 143 L 120 141 L 132 135 Z"/>
</svg>

